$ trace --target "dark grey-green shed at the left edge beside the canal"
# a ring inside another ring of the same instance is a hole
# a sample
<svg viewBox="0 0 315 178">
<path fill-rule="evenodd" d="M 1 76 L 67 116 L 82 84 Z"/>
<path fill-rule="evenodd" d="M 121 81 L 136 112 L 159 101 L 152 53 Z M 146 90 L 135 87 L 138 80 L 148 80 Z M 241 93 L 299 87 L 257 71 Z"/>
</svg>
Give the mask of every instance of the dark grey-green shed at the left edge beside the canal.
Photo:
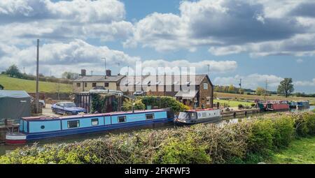
<svg viewBox="0 0 315 178">
<path fill-rule="evenodd" d="M 26 91 L 0 90 L 0 120 L 31 116 L 31 96 Z"/>
</svg>

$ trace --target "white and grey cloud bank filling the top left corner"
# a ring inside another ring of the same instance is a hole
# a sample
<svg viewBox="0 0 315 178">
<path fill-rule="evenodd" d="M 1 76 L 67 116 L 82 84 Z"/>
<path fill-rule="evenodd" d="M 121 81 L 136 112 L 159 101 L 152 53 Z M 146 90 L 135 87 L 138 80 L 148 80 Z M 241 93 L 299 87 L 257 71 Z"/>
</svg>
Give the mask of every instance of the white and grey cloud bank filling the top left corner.
<svg viewBox="0 0 315 178">
<path fill-rule="evenodd" d="M 125 5 L 118 0 L 0 1 L 0 38 L 12 44 L 34 38 L 125 39 L 133 25 L 124 19 Z"/>
</svg>

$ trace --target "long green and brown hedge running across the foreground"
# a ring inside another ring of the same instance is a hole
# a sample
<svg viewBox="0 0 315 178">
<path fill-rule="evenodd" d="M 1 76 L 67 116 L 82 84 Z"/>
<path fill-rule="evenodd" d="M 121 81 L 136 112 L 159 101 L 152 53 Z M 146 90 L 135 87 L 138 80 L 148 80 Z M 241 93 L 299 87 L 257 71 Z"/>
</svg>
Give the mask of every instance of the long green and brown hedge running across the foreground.
<svg viewBox="0 0 315 178">
<path fill-rule="evenodd" d="M 236 124 L 197 124 L 23 147 L 0 163 L 258 163 L 291 140 L 315 135 L 315 113 L 276 113 Z"/>
</svg>

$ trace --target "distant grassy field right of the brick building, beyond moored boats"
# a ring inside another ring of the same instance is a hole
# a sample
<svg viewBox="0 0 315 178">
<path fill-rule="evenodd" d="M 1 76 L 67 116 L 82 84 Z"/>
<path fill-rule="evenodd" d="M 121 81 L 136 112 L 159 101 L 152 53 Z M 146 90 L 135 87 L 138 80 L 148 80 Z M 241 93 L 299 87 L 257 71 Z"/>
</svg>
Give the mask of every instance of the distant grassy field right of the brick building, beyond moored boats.
<svg viewBox="0 0 315 178">
<path fill-rule="evenodd" d="M 218 98 L 232 98 L 232 99 L 245 99 L 245 100 L 255 100 L 260 99 L 263 100 L 265 96 L 258 96 L 258 95 L 247 95 L 247 94 L 228 94 L 228 93 L 221 93 L 221 92 L 214 92 L 214 95 Z M 315 98 L 311 97 L 295 97 L 290 96 L 288 98 L 284 96 L 266 96 L 267 100 L 288 100 L 288 101 L 302 101 L 302 100 L 308 100 L 309 103 L 312 103 L 315 105 Z"/>
</svg>

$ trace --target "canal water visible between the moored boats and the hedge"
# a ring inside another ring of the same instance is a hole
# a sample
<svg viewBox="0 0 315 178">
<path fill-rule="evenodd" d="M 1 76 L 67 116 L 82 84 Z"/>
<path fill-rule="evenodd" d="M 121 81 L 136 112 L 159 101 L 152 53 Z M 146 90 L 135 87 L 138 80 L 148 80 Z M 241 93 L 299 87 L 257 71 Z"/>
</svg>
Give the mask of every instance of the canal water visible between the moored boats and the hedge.
<svg viewBox="0 0 315 178">
<path fill-rule="evenodd" d="M 311 105 L 309 108 L 305 109 L 305 110 L 314 110 L 315 106 Z M 290 110 L 290 112 L 298 112 L 301 110 Z M 263 115 L 263 114 L 268 114 L 270 112 L 260 112 L 257 114 L 248 114 L 247 117 L 254 117 L 254 116 L 259 116 L 259 115 Z M 241 119 L 246 118 L 244 115 L 243 116 L 237 116 L 236 118 L 234 117 L 225 117 L 223 120 L 217 122 L 216 124 L 222 124 L 223 122 L 225 123 L 236 123 L 238 121 L 240 121 Z M 167 126 L 161 126 L 158 128 L 151 128 L 151 129 L 155 129 L 155 130 L 162 130 L 162 129 L 166 129 L 166 128 L 174 128 L 173 124 L 169 124 Z M 132 129 L 132 130 L 126 130 L 123 131 L 123 133 L 132 133 L 133 131 L 139 131 L 141 129 Z M 37 142 L 38 145 L 43 145 L 43 144 L 61 144 L 61 143 L 72 143 L 72 142 L 80 142 L 83 140 L 89 140 L 89 139 L 97 139 L 97 138 L 102 138 L 105 135 L 109 135 L 109 134 L 119 134 L 122 133 L 122 131 L 108 131 L 108 132 L 104 132 L 104 133 L 89 133 L 89 134 L 85 134 L 85 135 L 75 135 L 75 136 L 67 136 L 64 138 L 51 138 L 51 139 L 45 139 L 45 140 L 40 140 L 39 142 Z M 33 143 L 29 143 L 28 145 L 31 146 Z M 18 147 L 24 147 L 25 145 L 5 145 L 5 144 L 0 144 L 0 156 L 6 153 L 9 153 L 10 151 L 18 148 Z"/>
</svg>

